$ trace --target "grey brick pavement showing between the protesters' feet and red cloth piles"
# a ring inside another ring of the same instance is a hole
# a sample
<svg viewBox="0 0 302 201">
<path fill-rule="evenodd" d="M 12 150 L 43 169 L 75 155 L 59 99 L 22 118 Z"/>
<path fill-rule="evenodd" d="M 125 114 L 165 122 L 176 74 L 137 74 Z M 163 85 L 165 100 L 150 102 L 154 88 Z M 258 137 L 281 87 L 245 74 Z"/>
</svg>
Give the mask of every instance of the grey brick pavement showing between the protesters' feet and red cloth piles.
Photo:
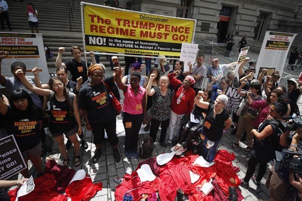
<svg viewBox="0 0 302 201">
<path fill-rule="evenodd" d="M 89 148 L 87 150 L 83 149 L 81 147 L 81 153 L 82 153 L 82 164 L 79 167 L 73 166 L 73 148 L 71 147 L 68 150 L 68 156 L 71 159 L 69 161 L 69 166 L 74 168 L 75 170 L 78 169 L 84 169 L 87 173 L 89 173 L 93 179 L 94 182 L 103 182 L 103 189 L 99 191 L 91 200 L 92 201 L 113 201 L 114 200 L 114 190 L 117 186 L 117 183 L 114 181 L 114 178 L 123 177 L 125 172 L 131 172 L 134 171 L 137 167 L 137 164 L 141 162 L 143 159 L 134 159 L 131 158 L 130 160 L 126 158 L 125 156 L 125 150 L 124 150 L 124 137 L 119 137 L 119 151 L 121 153 L 122 159 L 120 162 L 115 163 L 113 158 L 113 152 L 112 148 L 109 144 L 109 140 L 105 140 L 102 143 L 102 151 L 103 155 L 100 157 L 98 163 L 93 164 L 89 162 L 89 159 L 91 157 L 91 153 L 95 151 L 95 145 L 92 143 L 92 134 L 90 131 L 85 131 L 86 136 L 85 139 L 87 140 L 89 144 Z M 250 153 L 245 152 L 243 149 L 247 146 L 244 143 L 240 142 L 240 146 L 236 149 L 231 148 L 232 144 L 234 142 L 234 135 L 230 134 L 230 130 L 225 132 L 223 134 L 222 140 L 218 145 L 218 149 L 225 149 L 229 152 L 235 153 L 235 160 L 233 161 L 233 164 L 241 169 L 240 172 L 238 172 L 239 177 L 244 177 L 245 172 L 247 170 L 247 161 L 249 159 Z M 139 141 L 143 140 L 145 137 L 147 137 L 148 134 L 142 134 L 139 135 Z M 160 133 L 158 133 L 158 139 L 159 140 Z M 66 139 L 65 139 L 66 141 Z M 154 146 L 153 156 L 157 156 L 160 153 L 163 152 L 170 152 L 169 148 L 163 149 L 161 145 L 158 143 Z M 54 153 L 50 154 L 49 156 L 59 158 L 60 154 L 57 148 L 57 144 L 55 143 L 53 148 Z M 92 154 L 93 155 L 93 154 Z M 45 159 L 45 156 L 43 157 Z M 45 161 L 45 160 L 43 160 Z M 45 162 L 44 162 L 45 163 Z M 31 167 L 31 164 L 29 164 Z M 245 197 L 244 200 L 247 201 L 254 201 L 258 199 L 263 200 L 269 200 L 268 190 L 265 187 L 265 180 L 269 171 L 269 168 L 271 167 L 272 163 L 268 164 L 267 172 L 264 176 L 264 178 L 261 180 L 261 186 L 257 187 L 252 181 L 250 181 L 250 188 L 246 189 L 243 187 L 240 187 L 242 189 L 242 194 Z M 36 175 L 36 172 L 32 168 L 31 173 Z M 257 169 L 256 169 L 257 172 Z M 19 174 L 19 178 L 21 177 L 21 174 Z"/>
</svg>

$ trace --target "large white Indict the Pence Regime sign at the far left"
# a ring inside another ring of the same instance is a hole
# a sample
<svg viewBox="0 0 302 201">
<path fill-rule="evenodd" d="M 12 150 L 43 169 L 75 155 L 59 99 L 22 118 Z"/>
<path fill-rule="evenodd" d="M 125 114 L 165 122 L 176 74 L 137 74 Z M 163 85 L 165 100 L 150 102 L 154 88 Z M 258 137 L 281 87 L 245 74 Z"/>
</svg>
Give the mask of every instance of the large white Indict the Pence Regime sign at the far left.
<svg viewBox="0 0 302 201">
<path fill-rule="evenodd" d="M 2 60 L 2 75 L 13 77 L 11 65 L 23 62 L 26 70 L 38 67 L 42 70 L 39 78 L 42 83 L 48 83 L 49 74 L 46 63 L 42 34 L 0 33 L 0 50 L 9 52 L 9 56 Z M 26 73 L 26 75 L 32 75 Z M 0 85 L 0 88 L 3 88 Z"/>
</svg>

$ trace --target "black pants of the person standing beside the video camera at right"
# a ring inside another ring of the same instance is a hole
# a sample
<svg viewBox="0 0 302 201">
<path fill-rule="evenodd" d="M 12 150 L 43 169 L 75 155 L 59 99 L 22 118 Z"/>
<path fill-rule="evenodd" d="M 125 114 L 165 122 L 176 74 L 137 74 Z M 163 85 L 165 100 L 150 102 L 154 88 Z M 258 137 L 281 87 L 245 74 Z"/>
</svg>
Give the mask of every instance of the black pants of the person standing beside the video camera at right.
<svg viewBox="0 0 302 201">
<path fill-rule="evenodd" d="M 253 176 L 258 162 L 260 164 L 259 164 L 259 169 L 258 169 L 258 174 L 257 174 L 256 180 L 261 181 L 261 179 L 264 176 L 265 171 L 266 171 L 267 162 L 262 162 L 262 161 L 258 160 L 253 154 L 251 154 L 251 157 L 249 158 L 249 161 L 248 161 L 247 173 L 244 177 L 245 182 L 249 182 L 249 180 Z"/>
</svg>

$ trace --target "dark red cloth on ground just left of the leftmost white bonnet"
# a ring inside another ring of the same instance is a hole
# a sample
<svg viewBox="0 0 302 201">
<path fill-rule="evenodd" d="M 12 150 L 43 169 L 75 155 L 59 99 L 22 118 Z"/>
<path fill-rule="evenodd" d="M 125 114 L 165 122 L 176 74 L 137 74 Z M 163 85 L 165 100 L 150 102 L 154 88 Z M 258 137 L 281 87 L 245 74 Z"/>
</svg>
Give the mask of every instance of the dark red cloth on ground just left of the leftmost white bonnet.
<svg viewBox="0 0 302 201">
<path fill-rule="evenodd" d="M 50 173 L 55 176 L 56 186 L 55 190 L 58 193 L 65 192 L 66 187 L 75 174 L 75 170 L 65 167 L 64 165 L 57 165 L 55 160 L 47 160 L 44 173 Z"/>
</svg>

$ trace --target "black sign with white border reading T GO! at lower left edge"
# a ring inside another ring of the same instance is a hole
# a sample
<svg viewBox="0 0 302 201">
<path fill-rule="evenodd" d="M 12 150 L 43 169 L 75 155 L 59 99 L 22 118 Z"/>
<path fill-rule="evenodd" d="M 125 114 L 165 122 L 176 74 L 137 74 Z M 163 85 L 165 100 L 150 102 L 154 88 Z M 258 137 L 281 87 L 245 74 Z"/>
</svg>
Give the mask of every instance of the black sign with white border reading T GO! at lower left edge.
<svg viewBox="0 0 302 201">
<path fill-rule="evenodd" d="M 0 179 L 6 179 L 27 168 L 14 135 L 0 139 Z"/>
</svg>

